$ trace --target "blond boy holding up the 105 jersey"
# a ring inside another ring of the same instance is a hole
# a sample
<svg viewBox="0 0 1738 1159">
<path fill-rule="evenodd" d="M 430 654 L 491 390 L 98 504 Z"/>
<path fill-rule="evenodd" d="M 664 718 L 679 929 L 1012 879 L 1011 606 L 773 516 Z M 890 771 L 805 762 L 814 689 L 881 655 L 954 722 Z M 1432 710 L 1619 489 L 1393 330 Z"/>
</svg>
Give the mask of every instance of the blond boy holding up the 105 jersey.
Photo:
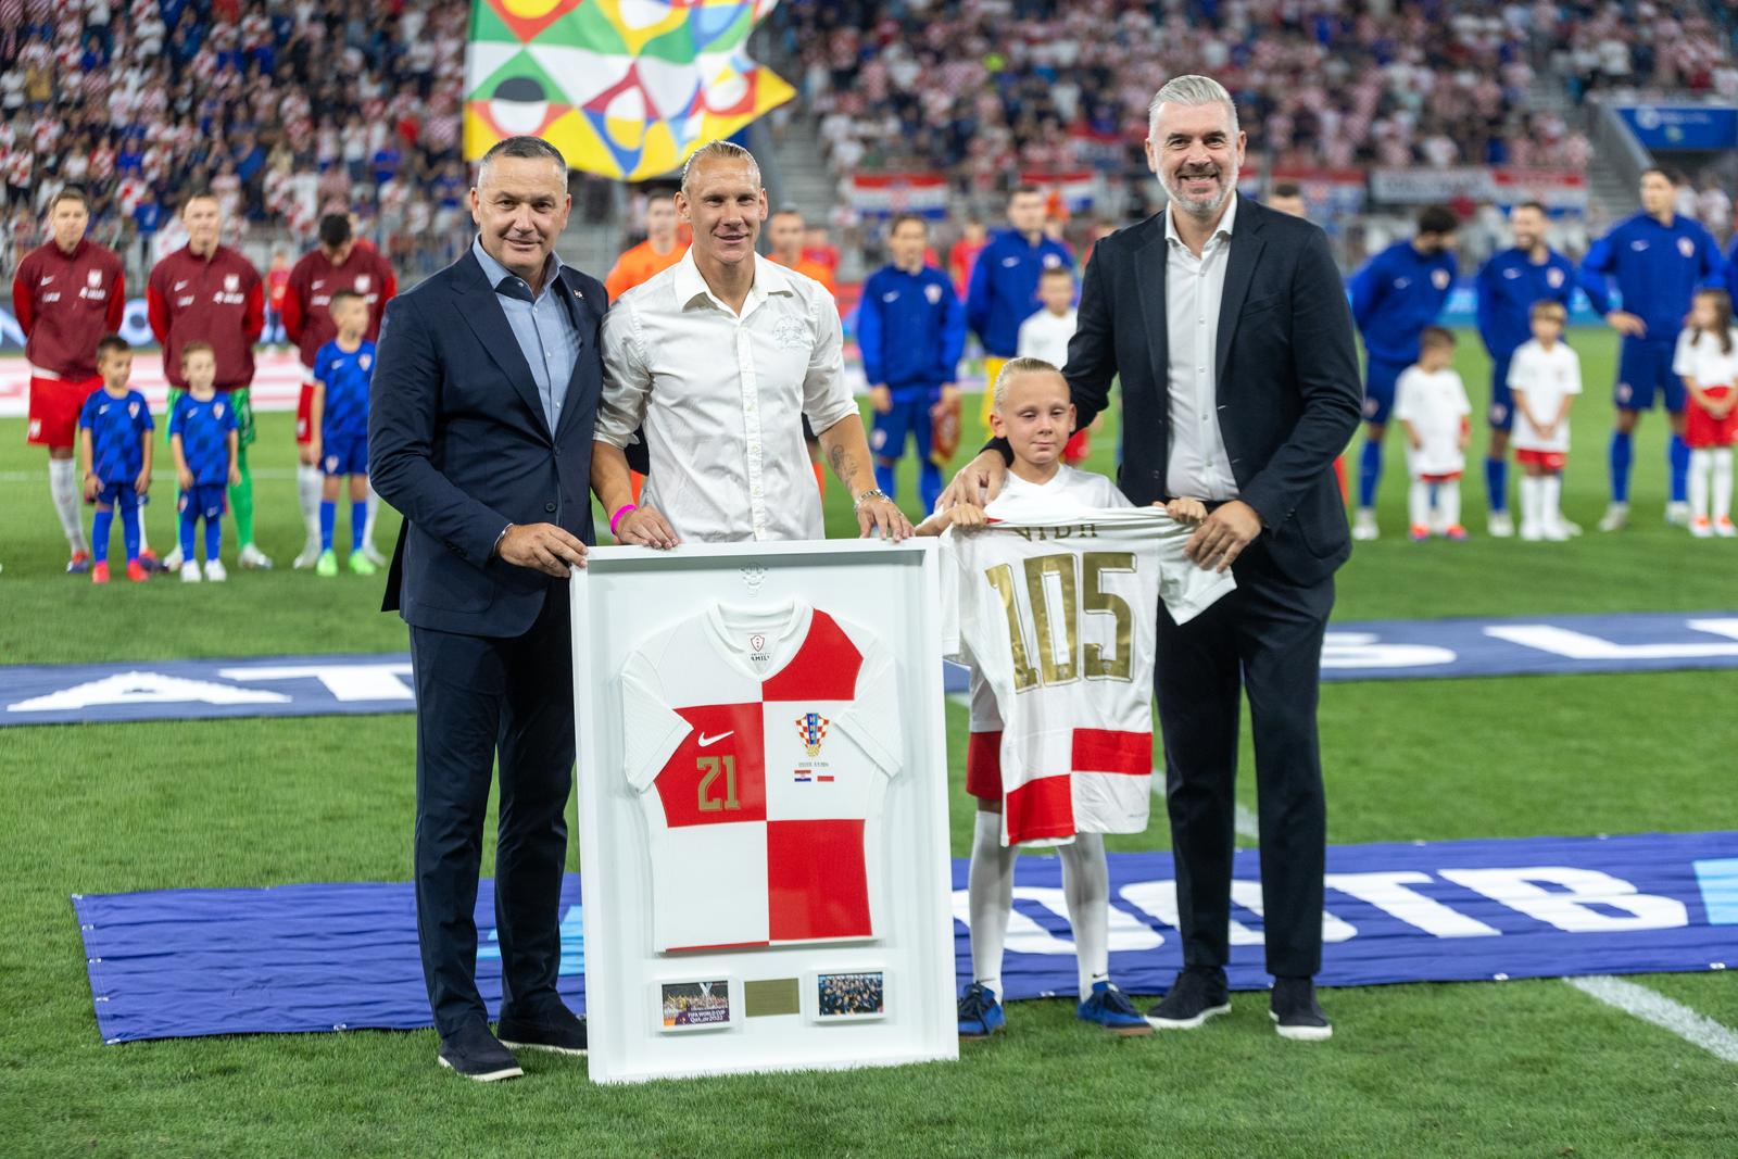
<svg viewBox="0 0 1738 1159">
<path fill-rule="evenodd" d="M 1003 367 L 994 384 L 991 431 L 1006 438 L 1013 454 L 1008 481 L 989 511 L 961 504 L 928 518 L 919 535 L 940 535 L 949 527 L 982 527 L 989 516 L 1012 514 L 1020 507 L 1043 509 L 1055 500 L 1076 507 L 1130 507 L 1111 480 L 1074 471 L 1060 462 L 1062 447 L 1074 429 L 1074 403 L 1069 384 L 1048 361 L 1015 358 Z M 1206 507 L 1194 499 L 1177 499 L 1166 506 L 1173 520 L 1201 523 Z M 966 759 L 966 792 L 977 798 L 977 827 L 972 841 L 968 895 L 972 907 L 973 982 L 959 999 L 959 1034 L 987 1037 L 1003 1029 L 1001 961 L 1013 905 L 1013 860 L 1017 846 L 1003 846 L 1003 784 L 999 749 L 977 742 L 985 733 L 977 725 L 985 718 L 999 721 L 994 693 L 980 672 L 972 681 L 973 744 Z M 998 725 L 999 728 L 999 725 Z M 1123 1036 L 1151 1034 L 1152 1027 L 1133 1003 L 1111 982 L 1111 886 L 1104 853 L 1104 834 L 1076 832 L 1069 844 L 1057 848 L 1062 857 L 1062 893 L 1079 959 L 1079 994 L 1076 1008 L 1083 1022 L 1091 1022 Z"/>
</svg>

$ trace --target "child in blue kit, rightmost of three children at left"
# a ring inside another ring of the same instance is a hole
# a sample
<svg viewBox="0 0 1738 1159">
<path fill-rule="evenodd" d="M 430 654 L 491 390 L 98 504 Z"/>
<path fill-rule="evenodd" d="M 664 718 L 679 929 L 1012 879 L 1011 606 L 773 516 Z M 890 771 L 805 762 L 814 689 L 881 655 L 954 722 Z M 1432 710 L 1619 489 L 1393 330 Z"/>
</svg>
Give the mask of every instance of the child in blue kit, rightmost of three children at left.
<svg viewBox="0 0 1738 1159">
<path fill-rule="evenodd" d="M 325 476 L 320 492 L 320 560 L 315 575 L 337 575 L 332 532 L 337 521 L 337 492 L 349 476 L 349 570 L 374 575 L 363 554 L 368 527 L 368 382 L 374 379 L 374 342 L 368 328 L 368 304 L 360 294 L 339 290 L 332 295 L 332 321 L 337 337 L 315 354 L 315 462 Z"/>
</svg>

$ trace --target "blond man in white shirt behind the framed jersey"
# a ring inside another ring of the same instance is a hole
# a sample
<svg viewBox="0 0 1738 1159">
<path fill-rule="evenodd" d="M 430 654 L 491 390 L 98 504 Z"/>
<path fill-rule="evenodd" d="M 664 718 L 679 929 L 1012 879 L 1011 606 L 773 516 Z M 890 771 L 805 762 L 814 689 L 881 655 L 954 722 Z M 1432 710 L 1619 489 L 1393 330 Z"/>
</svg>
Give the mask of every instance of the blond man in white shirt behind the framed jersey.
<svg viewBox="0 0 1738 1159">
<path fill-rule="evenodd" d="M 822 539 L 805 415 L 862 533 L 911 535 L 874 485 L 833 295 L 754 254 L 766 221 L 754 156 L 726 141 L 702 146 L 683 170 L 676 212 L 692 248 L 603 321 L 591 487 L 612 535 L 648 547 Z M 640 504 L 624 455 L 636 431 L 652 460 Z"/>
</svg>

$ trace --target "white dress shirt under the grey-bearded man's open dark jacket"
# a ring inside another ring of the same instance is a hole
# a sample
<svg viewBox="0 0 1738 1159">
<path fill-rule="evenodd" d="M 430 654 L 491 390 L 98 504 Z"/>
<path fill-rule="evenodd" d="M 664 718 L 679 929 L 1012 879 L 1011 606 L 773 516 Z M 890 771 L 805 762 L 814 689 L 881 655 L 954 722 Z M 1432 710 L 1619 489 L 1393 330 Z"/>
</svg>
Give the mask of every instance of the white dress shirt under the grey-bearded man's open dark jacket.
<svg viewBox="0 0 1738 1159">
<path fill-rule="evenodd" d="M 1231 231 L 1237 224 L 1237 195 L 1196 257 L 1177 236 L 1164 207 L 1164 332 L 1170 351 L 1166 412 L 1170 459 L 1164 490 L 1173 499 L 1236 499 L 1225 436 L 1218 429 L 1218 304 L 1225 295 Z"/>
</svg>

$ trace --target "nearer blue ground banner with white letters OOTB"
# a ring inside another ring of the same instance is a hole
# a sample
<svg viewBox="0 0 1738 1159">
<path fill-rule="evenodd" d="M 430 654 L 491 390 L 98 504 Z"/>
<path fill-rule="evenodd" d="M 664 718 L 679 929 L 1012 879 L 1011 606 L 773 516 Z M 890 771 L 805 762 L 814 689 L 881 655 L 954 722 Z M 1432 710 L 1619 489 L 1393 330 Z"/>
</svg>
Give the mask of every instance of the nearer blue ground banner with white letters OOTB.
<svg viewBox="0 0 1738 1159">
<path fill-rule="evenodd" d="M 1237 853 L 1231 985 L 1269 983 L 1257 855 Z M 1166 853 L 1111 855 L 1111 973 L 1163 992 L 1182 952 Z M 476 902 L 478 985 L 501 999 L 494 891 Z M 956 961 L 972 973 L 966 862 Z M 408 884 L 75 895 L 106 1043 L 429 1025 Z M 560 989 L 584 1010 L 579 879 L 561 890 Z M 1060 862 L 1022 857 L 1008 997 L 1072 994 Z M 1323 985 L 1469 982 L 1738 966 L 1738 832 L 1352 844 L 1328 850 Z"/>
</svg>

